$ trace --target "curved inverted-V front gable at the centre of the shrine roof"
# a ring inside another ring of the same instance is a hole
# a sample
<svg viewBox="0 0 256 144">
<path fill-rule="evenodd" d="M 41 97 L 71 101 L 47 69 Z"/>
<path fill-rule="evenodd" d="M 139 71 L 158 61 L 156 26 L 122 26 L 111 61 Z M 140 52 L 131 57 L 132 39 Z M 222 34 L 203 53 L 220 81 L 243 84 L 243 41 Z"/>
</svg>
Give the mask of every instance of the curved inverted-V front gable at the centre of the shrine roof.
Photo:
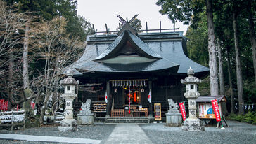
<svg viewBox="0 0 256 144">
<path fill-rule="evenodd" d="M 104 60 L 116 57 L 118 52 L 122 50 L 123 45 L 129 41 L 134 47 L 134 50 L 138 53 L 141 57 L 147 57 L 148 59 L 162 59 L 160 55 L 154 52 L 151 48 L 146 45 L 140 38 L 132 34 L 131 31 L 125 30 L 118 36 L 113 43 L 111 43 L 108 48 L 101 53 L 98 57 L 94 59 L 97 60 Z"/>
</svg>

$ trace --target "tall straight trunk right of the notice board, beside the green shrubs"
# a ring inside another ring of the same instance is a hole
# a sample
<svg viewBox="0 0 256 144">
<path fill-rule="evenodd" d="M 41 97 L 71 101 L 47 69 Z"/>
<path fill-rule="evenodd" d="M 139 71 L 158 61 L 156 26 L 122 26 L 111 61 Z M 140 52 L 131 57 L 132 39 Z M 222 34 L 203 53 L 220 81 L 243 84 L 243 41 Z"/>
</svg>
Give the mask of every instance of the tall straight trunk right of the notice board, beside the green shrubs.
<svg viewBox="0 0 256 144">
<path fill-rule="evenodd" d="M 236 18 L 237 18 L 236 13 L 233 13 L 233 36 L 234 36 L 235 50 L 236 50 L 236 80 L 237 80 L 237 89 L 238 89 L 239 114 L 244 114 L 243 78 L 242 78 L 242 71 L 241 71 L 241 60 L 240 60 L 240 50 L 238 45 Z"/>
</svg>

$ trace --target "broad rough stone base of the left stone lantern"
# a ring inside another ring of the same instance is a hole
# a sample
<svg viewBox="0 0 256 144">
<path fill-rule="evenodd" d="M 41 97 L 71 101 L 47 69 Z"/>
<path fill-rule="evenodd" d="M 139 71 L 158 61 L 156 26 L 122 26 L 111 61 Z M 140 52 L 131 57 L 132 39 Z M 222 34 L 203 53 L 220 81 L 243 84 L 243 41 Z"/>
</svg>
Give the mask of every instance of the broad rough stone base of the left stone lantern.
<svg viewBox="0 0 256 144">
<path fill-rule="evenodd" d="M 79 127 L 77 127 L 77 120 L 75 119 L 64 119 L 60 122 L 60 126 L 58 127 L 58 131 L 79 131 Z"/>
</svg>

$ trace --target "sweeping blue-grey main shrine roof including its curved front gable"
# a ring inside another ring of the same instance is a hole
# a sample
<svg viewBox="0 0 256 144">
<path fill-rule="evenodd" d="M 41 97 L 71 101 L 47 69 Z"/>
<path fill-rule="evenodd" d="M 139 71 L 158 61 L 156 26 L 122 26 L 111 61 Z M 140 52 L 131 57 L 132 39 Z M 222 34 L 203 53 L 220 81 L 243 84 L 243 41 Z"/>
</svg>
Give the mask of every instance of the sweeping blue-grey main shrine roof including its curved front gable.
<svg viewBox="0 0 256 144">
<path fill-rule="evenodd" d="M 118 56 L 127 41 L 132 44 L 137 56 Z M 139 33 L 138 36 L 124 31 L 120 36 L 117 34 L 87 36 L 87 48 L 85 48 L 84 55 L 68 66 L 68 69 L 71 68 L 74 75 L 88 72 L 140 73 L 151 71 L 167 71 L 169 74 L 186 75 L 190 66 L 196 75 L 209 73 L 207 67 L 187 57 L 186 38 L 182 31 Z"/>
</svg>

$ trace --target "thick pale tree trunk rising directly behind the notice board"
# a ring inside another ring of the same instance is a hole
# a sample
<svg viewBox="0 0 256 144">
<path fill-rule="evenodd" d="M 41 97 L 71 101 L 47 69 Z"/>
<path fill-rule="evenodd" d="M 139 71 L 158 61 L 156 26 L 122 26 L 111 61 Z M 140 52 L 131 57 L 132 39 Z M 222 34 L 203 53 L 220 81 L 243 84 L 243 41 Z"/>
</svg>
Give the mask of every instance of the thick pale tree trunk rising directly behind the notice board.
<svg viewBox="0 0 256 144">
<path fill-rule="evenodd" d="M 207 6 L 207 27 L 208 27 L 208 52 L 210 68 L 210 92 L 212 96 L 219 95 L 219 85 L 217 78 L 217 57 L 215 50 L 215 29 L 212 15 L 212 0 L 206 1 Z"/>
</svg>

